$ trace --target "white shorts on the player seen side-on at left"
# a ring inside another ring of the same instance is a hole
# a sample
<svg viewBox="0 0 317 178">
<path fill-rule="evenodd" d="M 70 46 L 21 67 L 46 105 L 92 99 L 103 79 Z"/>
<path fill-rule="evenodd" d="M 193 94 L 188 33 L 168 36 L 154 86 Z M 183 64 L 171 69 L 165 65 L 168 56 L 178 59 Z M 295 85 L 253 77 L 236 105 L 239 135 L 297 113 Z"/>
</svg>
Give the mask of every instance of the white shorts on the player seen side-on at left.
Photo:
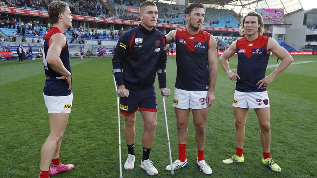
<svg viewBox="0 0 317 178">
<path fill-rule="evenodd" d="M 44 95 L 44 100 L 49 114 L 70 113 L 73 104 L 73 92 L 68 96 Z"/>
</svg>

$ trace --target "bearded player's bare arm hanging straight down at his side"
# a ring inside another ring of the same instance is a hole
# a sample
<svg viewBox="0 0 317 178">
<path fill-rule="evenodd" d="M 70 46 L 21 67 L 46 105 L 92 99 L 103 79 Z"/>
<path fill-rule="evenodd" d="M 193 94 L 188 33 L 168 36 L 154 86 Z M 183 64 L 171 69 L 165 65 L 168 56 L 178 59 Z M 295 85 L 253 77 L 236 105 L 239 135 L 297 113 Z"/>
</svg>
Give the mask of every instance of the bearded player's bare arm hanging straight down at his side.
<svg viewBox="0 0 317 178">
<path fill-rule="evenodd" d="M 208 48 L 208 73 L 209 89 L 206 96 L 208 107 L 215 101 L 215 83 L 217 79 L 217 42 L 214 36 L 210 36 Z"/>
</svg>

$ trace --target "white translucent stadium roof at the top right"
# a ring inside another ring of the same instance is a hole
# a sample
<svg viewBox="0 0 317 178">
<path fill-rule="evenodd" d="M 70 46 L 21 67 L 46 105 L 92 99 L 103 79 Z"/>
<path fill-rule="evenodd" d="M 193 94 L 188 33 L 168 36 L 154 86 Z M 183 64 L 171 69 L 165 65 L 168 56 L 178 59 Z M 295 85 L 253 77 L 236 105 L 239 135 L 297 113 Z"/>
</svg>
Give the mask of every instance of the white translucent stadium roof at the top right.
<svg viewBox="0 0 317 178">
<path fill-rule="evenodd" d="M 176 0 L 152 1 L 176 3 Z M 188 0 L 188 2 L 200 2 L 210 8 L 234 10 L 242 16 L 255 9 L 285 9 L 284 14 L 288 14 L 303 8 L 299 0 Z"/>
</svg>

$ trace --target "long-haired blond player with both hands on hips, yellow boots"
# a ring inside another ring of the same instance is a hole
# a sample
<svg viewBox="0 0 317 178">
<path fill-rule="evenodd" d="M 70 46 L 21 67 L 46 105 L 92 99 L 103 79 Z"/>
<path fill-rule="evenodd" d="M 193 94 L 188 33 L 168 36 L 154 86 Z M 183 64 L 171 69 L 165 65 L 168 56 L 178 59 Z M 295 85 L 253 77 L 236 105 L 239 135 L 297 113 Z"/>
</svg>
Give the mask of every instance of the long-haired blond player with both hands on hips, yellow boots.
<svg viewBox="0 0 317 178">
<path fill-rule="evenodd" d="M 270 153 L 271 128 L 270 104 L 267 86 L 293 62 L 292 56 L 282 48 L 276 40 L 262 36 L 264 32 L 263 18 L 256 12 L 249 12 L 242 18 L 240 34 L 245 37 L 233 42 L 220 57 L 220 63 L 230 80 L 236 80 L 236 90 L 233 99 L 233 110 L 236 126 L 236 155 L 223 160 L 225 164 L 244 162 L 243 144 L 245 140 L 245 122 L 248 109 L 254 109 L 260 126 L 262 143 L 262 163 L 275 172 L 281 172 Z M 270 53 L 281 59 L 277 68 L 265 76 Z M 229 68 L 227 60 L 238 54 L 237 72 Z"/>
</svg>

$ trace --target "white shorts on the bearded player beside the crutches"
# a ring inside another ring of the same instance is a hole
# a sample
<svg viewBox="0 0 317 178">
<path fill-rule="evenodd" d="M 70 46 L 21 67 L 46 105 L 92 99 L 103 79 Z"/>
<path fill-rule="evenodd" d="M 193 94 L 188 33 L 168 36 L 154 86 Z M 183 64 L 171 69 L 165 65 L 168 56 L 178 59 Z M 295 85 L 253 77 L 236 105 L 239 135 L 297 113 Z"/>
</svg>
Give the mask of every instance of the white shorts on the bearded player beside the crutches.
<svg viewBox="0 0 317 178">
<path fill-rule="evenodd" d="M 178 109 L 204 109 L 208 91 L 186 91 L 175 88 L 173 107 Z"/>
</svg>

